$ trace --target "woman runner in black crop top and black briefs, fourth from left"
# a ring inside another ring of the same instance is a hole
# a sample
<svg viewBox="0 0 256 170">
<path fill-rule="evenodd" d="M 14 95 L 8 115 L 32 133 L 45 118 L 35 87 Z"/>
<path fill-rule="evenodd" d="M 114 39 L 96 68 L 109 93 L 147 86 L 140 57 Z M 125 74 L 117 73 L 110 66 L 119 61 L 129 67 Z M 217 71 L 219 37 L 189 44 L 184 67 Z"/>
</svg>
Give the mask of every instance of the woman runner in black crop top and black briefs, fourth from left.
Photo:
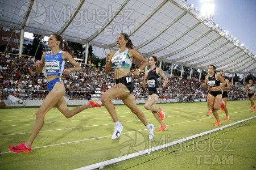
<svg viewBox="0 0 256 170">
<path fill-rule="evenodd" d="M 218 75 L 216 73 L 216 67 L 213 65 L 210 65 L 208 67 L 208 74 L 209 75 L 205 76 L 205 83 L 203 83 L 203 87 L 209 87 L 207 103 L 209 103 L 210 108 L 212 109 L 213 116 L 217 120 L 217 122 L 213 125 L 218 126 L 221 124 L 220 118 L 218 118 L 217 113 L 217 111 L 221 108 L 222 103 L 221 88 L 226 85 L 226 82 L 224 81 L 221 75 Z"/>
</svg>

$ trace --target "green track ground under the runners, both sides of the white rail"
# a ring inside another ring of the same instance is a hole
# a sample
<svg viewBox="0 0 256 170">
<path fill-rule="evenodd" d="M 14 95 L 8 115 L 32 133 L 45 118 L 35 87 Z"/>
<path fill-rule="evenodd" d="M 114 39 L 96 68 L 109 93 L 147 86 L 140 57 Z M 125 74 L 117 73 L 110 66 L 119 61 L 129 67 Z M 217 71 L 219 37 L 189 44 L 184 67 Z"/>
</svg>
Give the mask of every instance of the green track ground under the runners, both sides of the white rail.
<svg viewBox="0 0 256 170">
<path fill-rule="evenodd" d="M 156 131 L 160 124 L 142 104 L 138 105 L 148 122 L 155 125 L 154 139 L 148 141 L 146 127 L 125 105 L 116 111 L 124 129 L 121 137 L 111 139 L 114 124 L 105 107 L 87 109 L 67 119 L 56 108 L 45 117 L 44 126 L 32 150 L 14 154 L 9 146 L 26 142 L 38 108 L 0 110 L 0 169 L 76 169 L 106 160 L 141 152 L 204 131 L 220 128 L 256 116 L 249 101 L 228 101 L 230 120 L 218 111 L 222 124 L 207 114 L 207 103 L 158 104 L 164 109 L 167 129 Z M 256 167 L 256 119 L 181 142 L 151 154 L 144 154 L 106 169 L 250 169 Z"/>
</svg>

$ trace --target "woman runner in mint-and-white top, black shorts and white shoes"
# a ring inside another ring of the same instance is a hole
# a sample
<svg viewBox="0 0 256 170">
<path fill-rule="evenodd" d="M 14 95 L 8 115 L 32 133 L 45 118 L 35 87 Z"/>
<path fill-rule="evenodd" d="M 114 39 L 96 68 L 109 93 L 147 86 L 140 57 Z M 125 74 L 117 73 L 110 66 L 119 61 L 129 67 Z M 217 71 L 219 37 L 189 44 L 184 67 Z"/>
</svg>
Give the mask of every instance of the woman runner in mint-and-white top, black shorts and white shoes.
<svg viewBox="0 0 256 170">
<path fill-rule="evenodd" d="M 131 81 L 131 77 L 129 75 L 131 63 L 134 58 L 141 61 L 142 65 L 138 70 L 134 71 L 133 76 L 139 75 L 140 71 L 147 66 L 147 61 L 137 52 L 137 50 L 134 49 L 134 45 L 126 33 L 121 33 L 117 36 L 117 46 L 119 48 L 117 52 L 110 51 L 108 54 L 106 54 L 105 65 L 106 73 L 110 72 L 113 65 L 115 85 L 109 88 L 101 96 L 102 104 L 104 104 L 114 121 L 114 133 L 112 135 L 112 139 L 118 138 L 123 130 L 123 125 L 121 122 L 119 122 L 117 113 L 115 112 L 114 104 L 111 101 L 112 99 L 119 97 L 123 103 L 129 109 L 131 109 L 131 112 L 136 114 L 139 120 L 141 120 L 142 123 L 147 127 L 149 134 L 148 138 L 151 140 L 154 137 L 154 125 L 148 124 L 144 113 L 138 108 L 133 96 L 131 95 L 131 92 L 133 92 L 134 89 L 134 84 Z"/>
</svg>

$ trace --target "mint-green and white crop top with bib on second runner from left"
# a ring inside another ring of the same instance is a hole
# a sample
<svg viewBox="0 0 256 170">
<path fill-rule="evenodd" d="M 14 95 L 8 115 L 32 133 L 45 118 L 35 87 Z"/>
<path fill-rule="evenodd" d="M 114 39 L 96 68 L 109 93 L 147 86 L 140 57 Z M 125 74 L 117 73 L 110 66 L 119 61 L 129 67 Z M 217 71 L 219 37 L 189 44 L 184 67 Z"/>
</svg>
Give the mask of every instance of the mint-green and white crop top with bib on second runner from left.
<svg viewBox="0 0 256 170">
<path fill-rule="evenodd" d="M 128 55 L 128 49 L 124 52 L 119 53 L 119 51 L 114 53 L 114 56 L 111 59 L 114 69 L 123 68 L 131 69 L 131 58 Z"/>
</svg>

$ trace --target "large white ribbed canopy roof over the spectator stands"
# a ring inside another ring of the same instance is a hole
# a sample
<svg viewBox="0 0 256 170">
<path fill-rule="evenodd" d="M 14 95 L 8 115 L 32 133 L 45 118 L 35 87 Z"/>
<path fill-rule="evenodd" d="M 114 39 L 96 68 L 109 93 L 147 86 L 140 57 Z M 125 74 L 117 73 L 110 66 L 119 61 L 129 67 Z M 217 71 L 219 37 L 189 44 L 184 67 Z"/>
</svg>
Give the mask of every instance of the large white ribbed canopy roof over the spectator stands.
<svg viewBox="0 0 256 170">
<path fill-rule="evenodd" d="M 143 57 L 226 73 L 256 73 L 256 56 L 217 24 L 180 0 L 3 0 L 0 25 L 114 48 L 130 35 Z"/>
</svg>

